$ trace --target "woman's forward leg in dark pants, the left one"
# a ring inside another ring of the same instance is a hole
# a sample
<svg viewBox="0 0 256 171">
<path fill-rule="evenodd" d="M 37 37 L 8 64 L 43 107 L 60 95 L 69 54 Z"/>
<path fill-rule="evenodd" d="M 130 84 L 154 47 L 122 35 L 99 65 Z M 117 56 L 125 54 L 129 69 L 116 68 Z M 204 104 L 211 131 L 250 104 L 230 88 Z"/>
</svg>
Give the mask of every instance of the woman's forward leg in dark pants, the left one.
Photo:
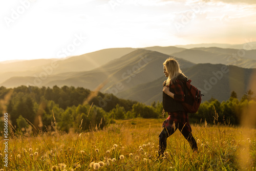
<svg viewBox="0 0 256 171">
<path fill-rule="evenodd" d="M 172 135 L 176 130 L 177 130 L 177 128 L 174 129 L 172 127 L 172 128 L 167 129 L 167 127 L 165 127 L 163 129 L 163 131 L 160 133 L 160 135 L 159 135 L 159 151 L 158 151 L 159 156 L 163 155 L 163 153 L 166 149 L 166 146 L 167 146 L 166 140 L 167 140 L 167 138 L 170 135 Z"/>
</svg>

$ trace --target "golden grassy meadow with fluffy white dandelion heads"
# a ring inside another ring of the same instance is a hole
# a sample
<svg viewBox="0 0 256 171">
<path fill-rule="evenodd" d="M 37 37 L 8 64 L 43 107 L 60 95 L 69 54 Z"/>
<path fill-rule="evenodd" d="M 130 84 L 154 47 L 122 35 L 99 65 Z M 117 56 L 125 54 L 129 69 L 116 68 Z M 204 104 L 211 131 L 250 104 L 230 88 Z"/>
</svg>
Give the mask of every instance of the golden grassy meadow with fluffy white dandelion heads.
<svg viewBox="0 0 256 171">
<path fill-rule="evenodd" d="M 103 130 L 37 136 L 15 134 L 9 140 L 8 167 L 1 170 L 255 170 L 256 130 L 192 124 L 198 153 L 177 130 L 157 158 L 163 119 L 116 120 Z"/>
</svg>

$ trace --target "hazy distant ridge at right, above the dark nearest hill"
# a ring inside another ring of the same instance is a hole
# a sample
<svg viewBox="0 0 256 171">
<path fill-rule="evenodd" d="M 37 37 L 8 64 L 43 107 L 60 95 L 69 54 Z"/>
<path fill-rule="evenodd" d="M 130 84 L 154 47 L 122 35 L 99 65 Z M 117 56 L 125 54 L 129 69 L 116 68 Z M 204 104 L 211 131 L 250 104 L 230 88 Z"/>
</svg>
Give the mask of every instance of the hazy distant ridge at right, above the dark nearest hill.
<svg viewBox="0 0 256 171">
<path fill-rule="evenodd" d="M 175 49 L 173 47 L 154 47 L 156 51 L 194 63 L 213 63 L 234 65 L 242 68 L 256 68 L 256 50 L 240 51 L 237 49 L 222 49 L 216 47 Z M 173 53 L 172 53 L 173 52 Z"/>
</svg>

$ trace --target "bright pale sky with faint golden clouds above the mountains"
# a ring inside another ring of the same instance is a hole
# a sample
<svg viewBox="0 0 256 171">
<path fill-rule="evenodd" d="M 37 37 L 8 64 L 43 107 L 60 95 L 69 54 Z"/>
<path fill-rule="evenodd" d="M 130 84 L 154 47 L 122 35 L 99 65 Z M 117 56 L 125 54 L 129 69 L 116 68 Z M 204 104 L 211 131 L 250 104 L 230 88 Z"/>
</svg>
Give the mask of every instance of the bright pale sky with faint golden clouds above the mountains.
<svg viewBox="0 0 256 171">
<path fill-rule="evenodd" d="M 5 0 L 0 11 L 0 61 L 256 41 L 255 0 Z"/>
</svg>

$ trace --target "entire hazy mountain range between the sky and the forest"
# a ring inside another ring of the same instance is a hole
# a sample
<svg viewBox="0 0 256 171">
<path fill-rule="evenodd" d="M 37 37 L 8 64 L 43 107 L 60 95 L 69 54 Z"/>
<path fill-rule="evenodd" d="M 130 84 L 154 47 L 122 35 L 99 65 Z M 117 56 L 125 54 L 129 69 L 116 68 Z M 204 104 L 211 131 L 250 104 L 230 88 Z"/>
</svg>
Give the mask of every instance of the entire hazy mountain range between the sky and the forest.
<svg viewBox="0 0 256 171">
<path fill-rule="evenodd" d="M 163 61 L 175 56 L 182 71 L 201 89 L 204 100 L 241 98 L 256 68 L 256 50 L 217 47 L 112 48 L 65 59 L 0 63 L 0 86 L 84 87 L 150 104 L 161 101 Z M 235 56 L 234 54 L 237 54 Z M 255 92 L 255 90 L 254 90 Z"/>
</svg>

